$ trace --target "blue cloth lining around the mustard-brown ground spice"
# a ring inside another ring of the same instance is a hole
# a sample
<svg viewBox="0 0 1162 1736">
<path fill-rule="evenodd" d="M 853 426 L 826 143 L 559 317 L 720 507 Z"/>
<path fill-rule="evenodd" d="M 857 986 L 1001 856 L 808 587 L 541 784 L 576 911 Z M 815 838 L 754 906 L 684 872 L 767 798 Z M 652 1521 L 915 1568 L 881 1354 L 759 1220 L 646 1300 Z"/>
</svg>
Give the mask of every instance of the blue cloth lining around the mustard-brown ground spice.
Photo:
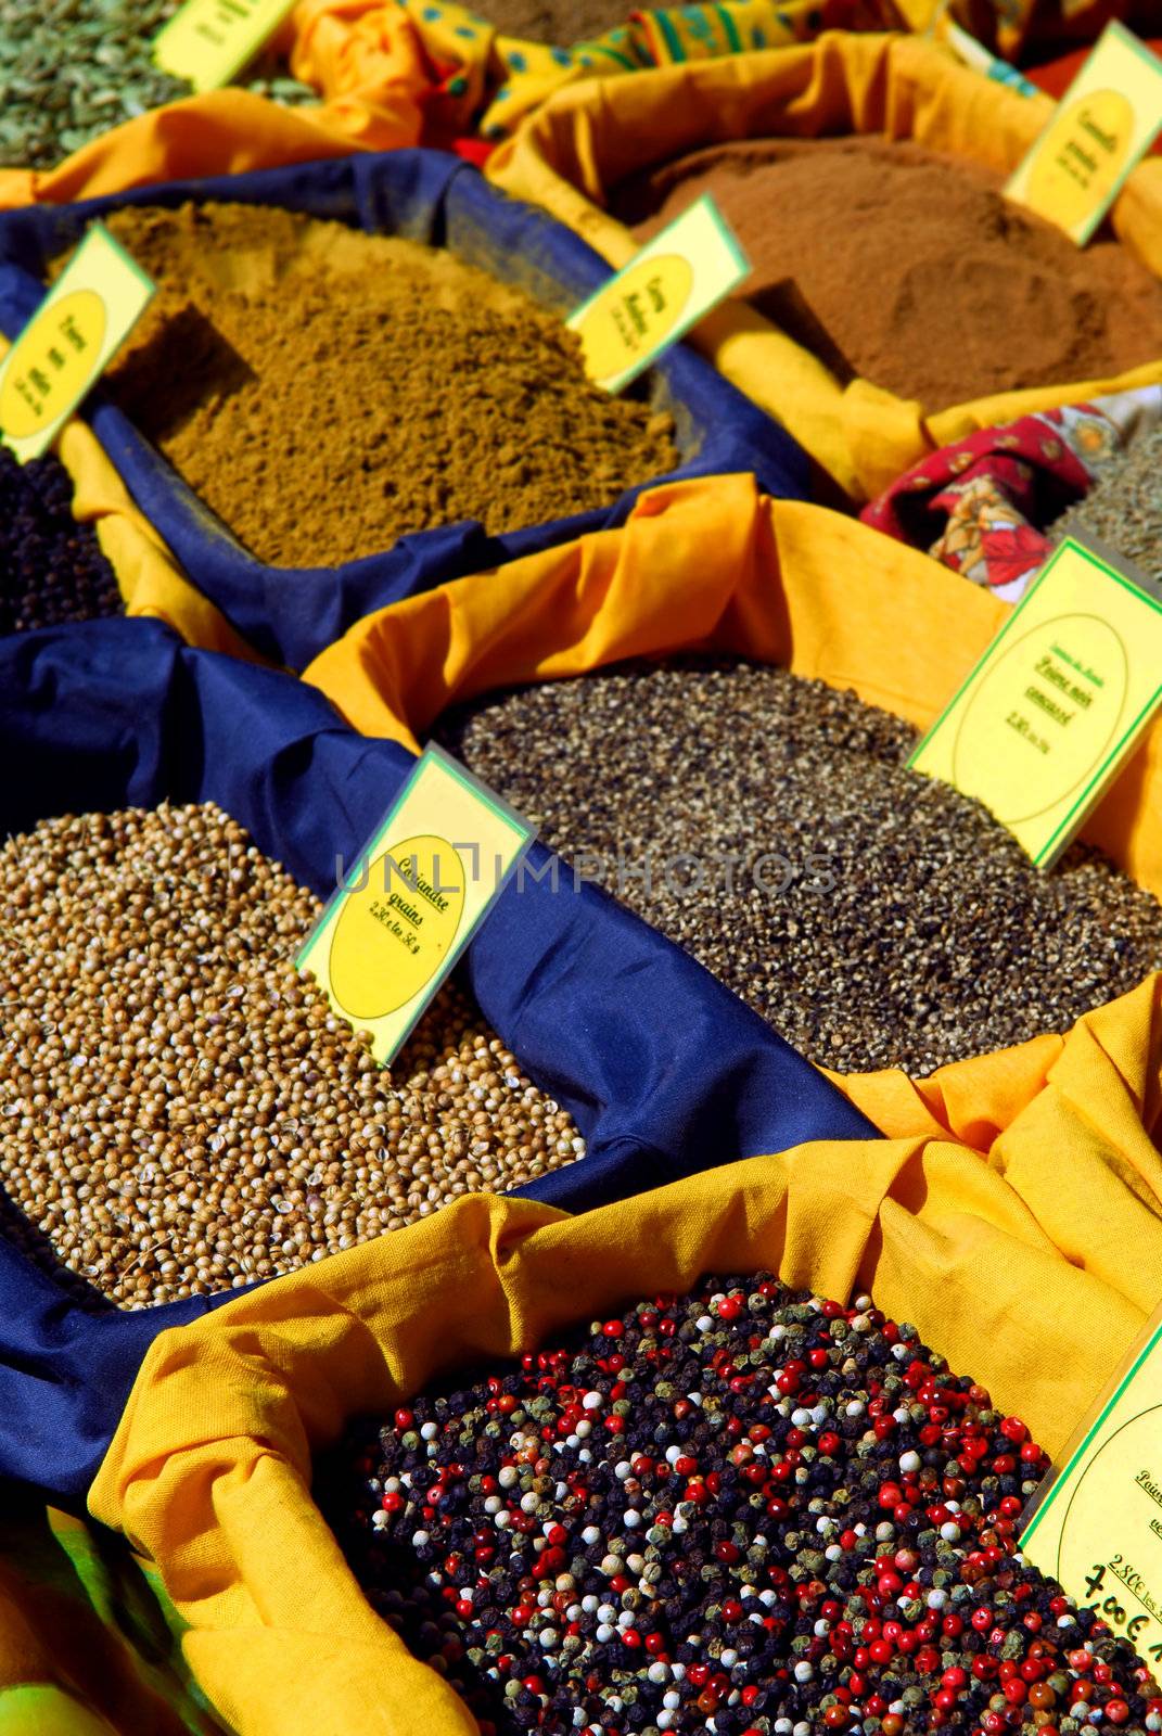
<svg viewBox="0 0 1162 1736">
<path fill-rule="evenodd" d="M 610 267 L 544 212 L 507 198 L 469 163 L 441 151 L 386 151 L 247 175 L 174 181 L 80 205 L 0 212 L 0 332 L 14 337 L 43 293 L 49 260 L 87 222 L 125 205 L 186 200 L 283 205 L 366 231 L 446 247 L 504 283 L 566 314 Z M 646 377 L 651 403 L 674 415 L 683 464 L 674 477 L 754 472 L 768 493 L 802 500 L 808 460 L 785 429 L 677 344 Z M 401 536 L 382 554 L 339 568 L 271 568 L 254 561 L 122 411 L 94 392 L 87 417 L 125 486 L 198 589 L 264 656 L 302 670 L 353 621 L 399 597 L 587 531 L 622 524 L 643 486 L 608 509 L 488 536 L 465 521 Z"/>
</svg>

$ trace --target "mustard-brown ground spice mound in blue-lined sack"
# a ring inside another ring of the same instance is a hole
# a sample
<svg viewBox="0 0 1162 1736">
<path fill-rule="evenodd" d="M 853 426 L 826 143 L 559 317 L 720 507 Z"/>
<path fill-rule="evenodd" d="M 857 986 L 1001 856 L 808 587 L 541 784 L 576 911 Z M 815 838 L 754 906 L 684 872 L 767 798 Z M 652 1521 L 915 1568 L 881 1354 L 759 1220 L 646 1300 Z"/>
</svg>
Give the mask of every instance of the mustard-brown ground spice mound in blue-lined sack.
<svg viewBox="0 0 1162 1736">
<path fill-rule="evenodd" d="M 679 462 L 667 415 L 591 385 L 559 319 L 446 252 L 254 205 L 109 227 L 158 295 L 108 382 L 261 561 L 518 529 Z"/>
</svg>

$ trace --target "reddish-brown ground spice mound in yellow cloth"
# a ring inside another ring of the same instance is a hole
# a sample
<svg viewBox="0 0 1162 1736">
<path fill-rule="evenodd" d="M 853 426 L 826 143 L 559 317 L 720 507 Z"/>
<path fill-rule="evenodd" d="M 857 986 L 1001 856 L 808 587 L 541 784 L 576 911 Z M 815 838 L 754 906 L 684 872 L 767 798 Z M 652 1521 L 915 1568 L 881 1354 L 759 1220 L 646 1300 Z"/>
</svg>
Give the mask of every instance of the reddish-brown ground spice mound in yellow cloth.
<svg viewBox="0 0 1162 1736">
<path fill-rule="evenodd" d="M 613 194 L 641 234 L 712 193 L 749 300 L 846 384 L 926 410 L 1115 375 L 1162 356 L 1162 285 L 1120 243 L 1084 252 L 959 158 L 877 137 L 759 139 L 646 170 Z"/>
</svg>

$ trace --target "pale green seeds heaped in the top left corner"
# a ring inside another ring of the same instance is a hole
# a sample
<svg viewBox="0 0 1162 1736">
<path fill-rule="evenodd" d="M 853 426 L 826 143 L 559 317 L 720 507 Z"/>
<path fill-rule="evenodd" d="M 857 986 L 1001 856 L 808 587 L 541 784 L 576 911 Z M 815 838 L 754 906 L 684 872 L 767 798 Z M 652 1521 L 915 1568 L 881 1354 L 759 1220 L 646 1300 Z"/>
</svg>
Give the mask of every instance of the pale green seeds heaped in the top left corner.
<svg viewBox="0 0 1162 1736">
<path fill-rule="evenodd" d="M 0 167 L 52 168 L 109 127 L 188 97 L 153 64 L 151 43 L 179 0 L 0 0 Z M 257 68 L 255 73 L 274 68 Z M 295 78 L 254 76 L 247 90 L 318 102 Z"/>
</svg>

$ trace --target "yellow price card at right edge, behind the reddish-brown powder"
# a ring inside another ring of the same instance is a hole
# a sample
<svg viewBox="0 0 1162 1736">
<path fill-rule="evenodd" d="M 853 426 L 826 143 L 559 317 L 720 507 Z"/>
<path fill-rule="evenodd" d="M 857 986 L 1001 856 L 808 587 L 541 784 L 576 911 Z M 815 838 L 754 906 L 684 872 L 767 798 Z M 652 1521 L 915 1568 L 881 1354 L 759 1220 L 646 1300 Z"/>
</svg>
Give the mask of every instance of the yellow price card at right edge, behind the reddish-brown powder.
<svg viewBox="0 0 1162 1736">
<path fill-rule="evenodd" d="M 1004 191 L 1084 247 L 1160 127 L 1162 61 L 1106 24 Z"/>
</svg>

